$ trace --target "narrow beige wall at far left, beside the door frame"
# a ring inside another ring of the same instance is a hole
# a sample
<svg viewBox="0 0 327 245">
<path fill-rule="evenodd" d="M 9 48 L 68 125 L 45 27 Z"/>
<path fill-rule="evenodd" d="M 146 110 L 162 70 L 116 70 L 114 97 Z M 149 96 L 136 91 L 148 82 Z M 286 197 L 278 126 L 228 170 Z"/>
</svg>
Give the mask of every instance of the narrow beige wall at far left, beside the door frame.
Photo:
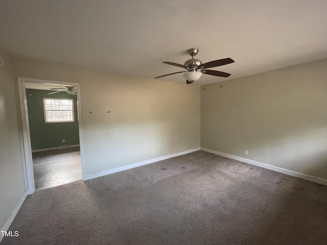
<svg viewBox="0 0 327 245">
<path fill-rule="evenodd" d="M 26 190 L 18 90 L 13 58 L 0 48 L 0 229 Z M 1 236 L 1 235 L 0 235 Z M 2 236 L 0 237 L 1 240 Z"/>
</svg>

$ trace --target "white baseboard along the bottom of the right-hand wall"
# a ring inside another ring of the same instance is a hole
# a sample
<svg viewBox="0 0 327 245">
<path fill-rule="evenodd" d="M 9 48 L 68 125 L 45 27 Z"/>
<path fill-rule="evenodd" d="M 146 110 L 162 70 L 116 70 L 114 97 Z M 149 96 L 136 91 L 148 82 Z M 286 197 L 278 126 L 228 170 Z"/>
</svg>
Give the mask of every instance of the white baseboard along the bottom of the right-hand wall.
<svg viewBox="0 0 327 245">
<path fill-rule="evenodd" d="M 285 169 L 285 168 L 281 168 L 281 167 L 275 167 L 275 166 L 265 164 L 265 163 L 262 163 L 262 162 L 256 162 L 256 161 L 249 160 L 249 159 L 246 159 L 246 158 L 243 158 L 243 157 L 237 157 L 237 156 L 229 155 L 229 154 L 222 153 L 222 152 L 217 152 L 217 151 L 202 148 L 202 147 L 201 147 L 201 150 L 205 151 L 205 152 L 213 153 L 213 154 L 216 154 L 216 155 L 219 155 L 219 156 L 227 157 L 227 158 L 230 158 L 230 159 L 238 160 L 238 161 L 241 161 L 241 162 L 246 162 L 246 163 L 249 163 L 249 164 L 252 164 L 252 165 L 255 165 L 255 166 L 259 166 L 259 167 L 267 168 L 267 169 L 270 169 L 270 170 L 274 170 L 276 172 L 283 173 L 283 174 L 290 175 L 290 176 L 294 176 L 294 177 L 297 177 L 297 178 L 300 178 L 300 179 L 305 179 L 305 180 L 309 180 L 309 181 L 319 183 L 319 184 L 322 184 L 322 185 L 327 185 L 327 180 L 321 179 L 321 178 L 318 178 L 318 177 L 314 177 L 314 176 L 311 176 L 311 175 L 298 173 L 298 172 L 295 172 L 295 171 L 292 171 L 292 170 L 289 170 L 289 169 Z"/>
</svg>

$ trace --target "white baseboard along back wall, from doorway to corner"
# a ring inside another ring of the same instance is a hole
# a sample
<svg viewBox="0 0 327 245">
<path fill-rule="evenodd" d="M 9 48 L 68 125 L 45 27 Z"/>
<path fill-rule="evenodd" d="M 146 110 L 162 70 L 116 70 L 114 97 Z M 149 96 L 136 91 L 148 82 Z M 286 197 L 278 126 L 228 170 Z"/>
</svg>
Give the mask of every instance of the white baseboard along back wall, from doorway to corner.
<svg viewBox="0 0 327 245">
<path fill-rule="evenodd" d="M 94 179 L 94 178 L 105 176 L 105 175 L 110 175 L 110 174 L 113 174 L 113 173 L 117 173 L 117 172 L 120 172 L 120 171 L 130 169 L 130 168 L 139 167 L 139 166 L 143 166 L 143 165 L 146 165 L 146 164 L 149 164 L 149 163 L 166 160 L 166 159 L 169 159 L 169 158 L 172 158 L 172 157 L 178 157 L 178 156 L 185 155 L 185 154 L 188 154 L 188 153 L 191 153 L 191 152 L 196 152 L 196 151 L 199 151 L 199 150 L 200 150 L 200 148 L 195 148 L 195 149 L 191 149 L 191 150 L 184 151 L 184 152 L 179 152 L 179 153 L 174 153 L 174 154 L 170 154 L 170 155 L 163 156 L 163 157 L 153 158 L 153 159 L 146 160 L 146 161 L 143 161 L 143 162 L 137 162 L 137 163 L 133 163 L 133 164 L 122 166 L 122 167 L 116 167 L 116 168 L 105 170 L 105 171 L 102 171 L 102 172 L 99 172 L 99 173 L 96 173 L 96 174 L 86 175 L 85 180 Z"/>
</svg>

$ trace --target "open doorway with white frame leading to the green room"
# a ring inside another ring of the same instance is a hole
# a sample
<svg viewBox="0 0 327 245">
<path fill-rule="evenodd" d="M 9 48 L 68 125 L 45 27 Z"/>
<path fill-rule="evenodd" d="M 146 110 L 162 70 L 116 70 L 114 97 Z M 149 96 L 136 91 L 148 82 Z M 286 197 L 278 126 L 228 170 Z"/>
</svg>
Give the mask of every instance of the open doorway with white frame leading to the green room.
<svg viewBox="0 0 327 245">
<path fill-rule="evenodd" d="M 28 193 L 84 180 L 79 84 L 18 78 L 18 89 Z"/>
</svg>

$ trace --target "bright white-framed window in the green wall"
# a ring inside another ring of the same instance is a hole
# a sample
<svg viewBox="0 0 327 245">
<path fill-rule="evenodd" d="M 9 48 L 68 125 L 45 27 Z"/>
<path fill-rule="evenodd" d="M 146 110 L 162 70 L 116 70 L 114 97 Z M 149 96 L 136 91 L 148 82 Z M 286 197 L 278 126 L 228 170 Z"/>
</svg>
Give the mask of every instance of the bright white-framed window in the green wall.
<svg viewBox="0 0 327 245">
<path fill-rule="evenodd" d="M 71 99 L 43 99 L 45 122 L 74 121 L 74 102 Z"/>
</svg>

